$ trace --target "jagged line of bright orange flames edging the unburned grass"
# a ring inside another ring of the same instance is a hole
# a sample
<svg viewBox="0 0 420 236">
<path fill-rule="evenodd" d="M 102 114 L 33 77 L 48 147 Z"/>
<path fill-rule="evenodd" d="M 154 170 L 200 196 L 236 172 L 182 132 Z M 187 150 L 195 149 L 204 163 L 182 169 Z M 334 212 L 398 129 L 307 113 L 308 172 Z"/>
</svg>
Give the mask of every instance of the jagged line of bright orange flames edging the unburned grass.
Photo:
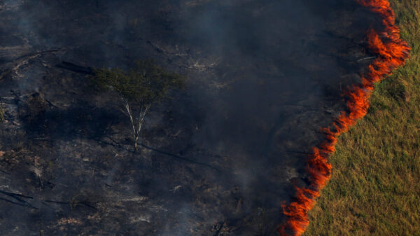
<svg viewBox="0 0 420 236">
<path fill-rule="evenodd" d="M 342 111 L 332 123 L 332 127 L 323 128 L 325 141 L 314 147 L 313 154 L 307 163 L 307 172 L 311 183 L 307 188 L 296 188 L 295 200 L 283 205 L 286 222 L 279 227 L 281 236 L 300 236 L 309 225 L 307 212 L 314 207 L 315 199 L 331 176 L 331 164 L 328 157 L 335 151 L 337 137 L 349 130 L 356 121 L 363 118 L 369 107 L 369 97 L 374 89 L 374 83 L 392 74 L 392 70 L 405 64 L 409 54 L 409 46 L 400 39 L 400 29 L 395 26 L 395 15 L 388 0 L 356 0 L 360 5 L 370 8 L 382 18 L 384 29 L 367 32 L 367 42 L 372 53 L 377 58 L 369 65 L 367 72 L 362 74 L 360 85 L 353 85 L 345 92 L 347 111 Z"/>
</svg>

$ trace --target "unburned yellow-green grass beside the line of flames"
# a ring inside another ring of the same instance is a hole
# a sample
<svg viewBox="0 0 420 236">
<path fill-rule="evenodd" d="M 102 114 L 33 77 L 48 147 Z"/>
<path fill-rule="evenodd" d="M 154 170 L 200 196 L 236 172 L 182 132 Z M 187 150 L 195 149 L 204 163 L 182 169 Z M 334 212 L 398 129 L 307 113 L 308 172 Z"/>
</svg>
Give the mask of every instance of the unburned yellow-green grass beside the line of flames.
<svg viewBox="0 0 420 236">
<path fill-rule="evenodd" d="M 339 137 L 305 236 L 420 235 L 420 1 L 390 2 L 410 58 L 377 85 L 367 116 Z"/>
</svg>

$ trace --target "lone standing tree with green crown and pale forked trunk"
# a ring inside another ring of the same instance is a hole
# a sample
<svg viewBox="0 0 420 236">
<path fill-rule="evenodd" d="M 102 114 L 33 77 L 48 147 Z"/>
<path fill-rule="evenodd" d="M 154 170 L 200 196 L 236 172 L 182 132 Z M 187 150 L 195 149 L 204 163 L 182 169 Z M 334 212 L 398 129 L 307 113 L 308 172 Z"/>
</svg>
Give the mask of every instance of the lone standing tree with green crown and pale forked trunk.
<svg viewBox="0 0 420 236">
<path fill-rule="evenodd" d="M 144 60 L 129 71 L 94 69 L 92 81 L 98 88 L 115 91 L 120 97 L 121 111 L 130 118 L 134 151 L 137 151 L 141 127 L 151 106 L 165 99 L 169 91 L 183 88 L 185 78 Z"/>
</svg>

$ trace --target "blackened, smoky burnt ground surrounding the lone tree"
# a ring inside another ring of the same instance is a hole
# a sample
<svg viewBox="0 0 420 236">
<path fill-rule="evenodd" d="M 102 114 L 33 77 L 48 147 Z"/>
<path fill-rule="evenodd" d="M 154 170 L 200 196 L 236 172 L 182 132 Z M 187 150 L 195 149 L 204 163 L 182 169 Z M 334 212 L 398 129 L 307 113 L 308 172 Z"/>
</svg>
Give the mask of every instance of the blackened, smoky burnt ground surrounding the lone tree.
<svg viewBox="0 0 420 236">
<path fill-rule="evenodd" d="M 0 19 L 1 235 L 276 235 L 380 25 L 353 0 L 7 0 Z M 133 153 L 83 68 L 141 59 L 188 84 Z"/>
</svg>

